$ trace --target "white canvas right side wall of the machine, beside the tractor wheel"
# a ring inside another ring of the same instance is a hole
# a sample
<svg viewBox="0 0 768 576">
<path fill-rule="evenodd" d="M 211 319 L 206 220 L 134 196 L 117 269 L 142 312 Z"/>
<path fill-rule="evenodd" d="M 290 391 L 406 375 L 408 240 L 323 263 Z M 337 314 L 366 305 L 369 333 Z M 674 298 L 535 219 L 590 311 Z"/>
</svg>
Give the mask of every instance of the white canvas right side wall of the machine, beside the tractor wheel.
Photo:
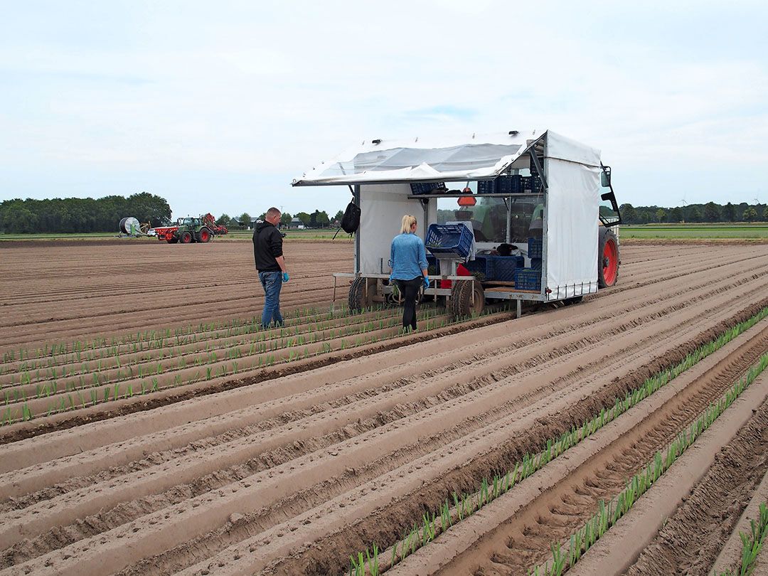
<svg viewBox="0 0 768 576">
<path fill-rule="evenodd" d="M 548 300 L 597 292 L 600 168 L 548 156 L 547 178 Z"/>
</svg>

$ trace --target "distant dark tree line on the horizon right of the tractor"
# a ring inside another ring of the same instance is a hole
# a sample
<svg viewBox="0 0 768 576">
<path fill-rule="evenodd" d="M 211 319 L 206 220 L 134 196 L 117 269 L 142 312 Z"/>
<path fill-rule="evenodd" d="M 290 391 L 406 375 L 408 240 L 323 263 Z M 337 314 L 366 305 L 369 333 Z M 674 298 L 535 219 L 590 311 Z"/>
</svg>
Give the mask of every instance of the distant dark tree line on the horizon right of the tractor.
<svg viewBox="0 0 768 576">
<path fill-rule="evenodd" d="M 621 220 L 628 224 L 676 222 L 768 222 L 766 204 L 687 204 L 677 207 L 621 204 Z"/>
</svg>

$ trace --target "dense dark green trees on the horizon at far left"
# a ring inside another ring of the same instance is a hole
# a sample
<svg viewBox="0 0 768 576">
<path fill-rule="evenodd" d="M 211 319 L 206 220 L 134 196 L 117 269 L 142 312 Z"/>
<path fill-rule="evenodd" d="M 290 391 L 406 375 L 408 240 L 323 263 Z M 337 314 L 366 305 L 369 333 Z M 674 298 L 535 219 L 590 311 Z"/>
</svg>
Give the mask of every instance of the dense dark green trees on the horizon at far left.
<svg viewBox="0 0 768 576">
<path fill-rule="evenodd" d="M 15 198 L 0 203 L 0 232 L 118 232 L 120 220 L 131 216 L 141 223 L 161 226 L 170 222 L 170 206 L 164 198 L 147 192 L 97 199 Z"/>
</svg>

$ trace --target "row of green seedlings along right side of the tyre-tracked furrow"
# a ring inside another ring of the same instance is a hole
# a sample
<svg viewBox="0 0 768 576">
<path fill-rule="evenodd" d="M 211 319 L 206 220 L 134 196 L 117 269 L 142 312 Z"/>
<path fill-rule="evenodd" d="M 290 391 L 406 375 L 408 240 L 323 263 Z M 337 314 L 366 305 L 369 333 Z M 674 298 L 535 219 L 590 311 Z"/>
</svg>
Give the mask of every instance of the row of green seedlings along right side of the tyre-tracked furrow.
<svg viewBox="0 0 768 576">
<path fill-rule="evenodd" d="M 705 430 L 709 429 L 710 425 L 712 425 L 712 423 L 717 420 L 717 418 L 725 412 L 731 404 L 733 404 L 733 401 L 736 400 L 752 382 L 754 382 L 757 376 L 760 376 L 760 373 L 762 373 L 766 367 L 768 367 L 768 353 L 763 354 L 763 356 L 760 357 L 760 361 L 746 372 L 746 376 L 733 384 L 720 400 L 707 406 L 707 409 L 701 412 L 699 417 L 688 426 L 687 429 L 680 432 L 680 434 L 677 435 L 677 438 L 667 446 L 667 451 L 664 453 L 664 456 L 662 456 L 661 452 L 656 452 L 654 459 L 649 462 L 645 468 L 642 468 L 641 472 L 638 472 L 632 478 L 627 480 L 627 487 L 624 488 L 616 498 L 607 504 L 601 501 L 598 505 L 598 511 L 589 518 L 582 528 L 571 535 L 568 550 L 561 548 L 559 541 L 554 542 L 551 545 L 551 562 L 548 561 L 543 567 L 536 566 L 531 571 L 528 571 L 528 574 L 534 574 L 534 576 L 560 576 L 560 574 L 563 574 L 568 568 L 574 566 L 581 556 L 585 554 L 602 535 L 604 535 L 605 531 L 616 524 L 622 516 L 627 514 L 634 503 L 637 502 L 637 498 L 644 495 L 648 488 L 654 485 L 664 472 L 669 470 L 671 465 L 677 461 L 677 458 L 690 448 Z M 766 520 L 768 520 L 768 518 L 766 518 Z M 755 544 L 750 548 L 748 556 L 748 558 L 751 558 L 750 562 L 754 561 L 757 552 L 760 551 L 763 538 L 765 538 L 764 530 L 765 528 L 762 528 L 756 533 L 756 535 L 760 536 L 760 544 Z M 742 541 L 745 545 L 746 554 L 746 541 L 744 538 L 742 538 Z M 748 573 L 749 572 L 742 574 Z"/>
</svg>

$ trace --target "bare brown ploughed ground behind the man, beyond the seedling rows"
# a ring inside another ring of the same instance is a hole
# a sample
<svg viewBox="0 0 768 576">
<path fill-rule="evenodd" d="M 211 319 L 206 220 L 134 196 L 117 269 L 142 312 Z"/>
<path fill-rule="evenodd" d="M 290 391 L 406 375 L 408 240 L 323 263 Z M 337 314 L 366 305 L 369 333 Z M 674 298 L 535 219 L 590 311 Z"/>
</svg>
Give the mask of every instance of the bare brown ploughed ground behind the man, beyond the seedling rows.
<svg viewBox="0 0 768 576">
<path fill-rule="evenodd" d="M 286 242 L 284 251 L 284 310 L 326 306 L 330 273 L 353 265 L 348 242 Z M 0 349 L 254 316 L 263 306 L 247 241 L 0 243 L 0 258 Z"/>
</svg>

